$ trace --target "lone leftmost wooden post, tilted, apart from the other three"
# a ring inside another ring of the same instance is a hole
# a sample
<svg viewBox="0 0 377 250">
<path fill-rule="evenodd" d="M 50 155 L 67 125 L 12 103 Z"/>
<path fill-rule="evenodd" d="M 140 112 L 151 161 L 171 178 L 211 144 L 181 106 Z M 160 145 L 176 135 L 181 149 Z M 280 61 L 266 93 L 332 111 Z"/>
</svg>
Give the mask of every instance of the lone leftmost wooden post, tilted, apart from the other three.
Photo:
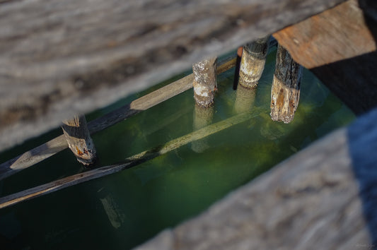
<svg viewBox="0 0 377 250">
<path fill-rule="evenodd" d="M 84 116 L 63 121 L 62 129 L 69 149 L 83 165 L 95 162 L 96 151 L 93 140 L 86 126 Z"/>
</svg>

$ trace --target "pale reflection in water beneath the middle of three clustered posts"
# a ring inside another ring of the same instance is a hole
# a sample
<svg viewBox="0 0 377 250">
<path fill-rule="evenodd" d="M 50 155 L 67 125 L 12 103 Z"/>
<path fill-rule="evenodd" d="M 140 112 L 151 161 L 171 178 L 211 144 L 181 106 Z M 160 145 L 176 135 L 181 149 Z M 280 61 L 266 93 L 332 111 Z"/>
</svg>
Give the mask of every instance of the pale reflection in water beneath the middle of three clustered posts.
<svg viewBox="0 0 377 250">
<path fill-rule="evenodd" d="M 243 85 L 238 85 L 236 91 L 236 102 L 234 102 L 234 111 L 236 114 L 248 112 L 254 106 L 255 94 L 257 88 L 245 88 Z"/>
</svg>

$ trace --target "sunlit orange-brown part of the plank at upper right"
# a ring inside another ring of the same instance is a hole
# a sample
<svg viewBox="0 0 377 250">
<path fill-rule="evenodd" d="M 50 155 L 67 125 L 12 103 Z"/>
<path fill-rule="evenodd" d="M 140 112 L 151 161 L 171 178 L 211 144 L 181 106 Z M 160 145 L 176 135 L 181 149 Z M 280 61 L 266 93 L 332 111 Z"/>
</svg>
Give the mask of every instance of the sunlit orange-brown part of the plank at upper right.
<svg viewBox="0 0 377 250">
<path fill-rule="evenodd" d="M 357 0 L 349 0 L 274 33 L 279 44 L 307 69 L 376 50 Z"/>
</svg>

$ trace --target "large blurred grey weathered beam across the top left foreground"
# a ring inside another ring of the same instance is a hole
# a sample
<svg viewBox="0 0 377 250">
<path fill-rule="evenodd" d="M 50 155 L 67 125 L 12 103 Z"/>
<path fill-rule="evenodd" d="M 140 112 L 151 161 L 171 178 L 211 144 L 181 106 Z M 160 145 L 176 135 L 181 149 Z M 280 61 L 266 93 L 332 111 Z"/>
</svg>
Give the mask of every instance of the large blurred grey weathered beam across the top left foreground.
<svg viewBox="0 0 377 250">
<path fill-rule="evenodd" d="M 342 1 L 5 1 L 0 150 Z"/>
</svg>

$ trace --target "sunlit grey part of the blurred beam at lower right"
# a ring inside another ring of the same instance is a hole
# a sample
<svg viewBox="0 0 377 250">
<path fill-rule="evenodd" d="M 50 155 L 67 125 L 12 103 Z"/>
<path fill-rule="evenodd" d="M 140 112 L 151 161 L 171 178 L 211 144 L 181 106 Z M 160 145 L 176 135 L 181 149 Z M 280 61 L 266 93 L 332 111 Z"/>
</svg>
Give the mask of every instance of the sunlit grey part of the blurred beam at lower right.
<svg viewBox="0 0 377 250">
<path fill-rule="evenodd" d="M 347 143 L 335 131 L 136 249 L 373 249 Z"/>
</svg>

